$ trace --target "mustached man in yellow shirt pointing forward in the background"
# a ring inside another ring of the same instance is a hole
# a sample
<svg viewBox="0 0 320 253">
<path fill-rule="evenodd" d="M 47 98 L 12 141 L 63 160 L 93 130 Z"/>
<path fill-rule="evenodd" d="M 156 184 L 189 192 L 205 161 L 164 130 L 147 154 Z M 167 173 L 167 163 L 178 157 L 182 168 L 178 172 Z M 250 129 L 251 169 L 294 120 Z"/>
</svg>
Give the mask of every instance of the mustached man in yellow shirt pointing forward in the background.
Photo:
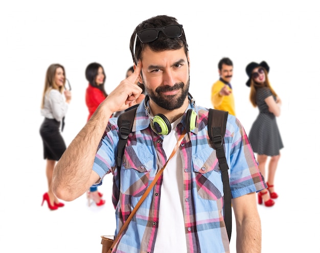
<svg viewBox="0 0 320 253">
<path fill-rule="evenodd" d="M 235 100 L 230 81 L 233 74 L 233 63 L 225 57 L 218 63 L 220 79 L 212 85 L 211 102 L 215 109 L 228 111 L 236 116 Z"/>
</svg>

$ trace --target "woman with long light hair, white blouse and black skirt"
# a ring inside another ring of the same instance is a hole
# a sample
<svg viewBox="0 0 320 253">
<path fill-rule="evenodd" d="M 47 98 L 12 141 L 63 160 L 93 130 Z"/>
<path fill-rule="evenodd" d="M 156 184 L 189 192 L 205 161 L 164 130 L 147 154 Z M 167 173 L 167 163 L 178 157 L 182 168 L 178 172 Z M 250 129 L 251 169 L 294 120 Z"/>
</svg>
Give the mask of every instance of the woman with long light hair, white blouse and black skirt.
<svg viewBox="0 0 320 253">
<path fill-rule="evenodd" d="M 64 89 L 65 80 L 62 65 L 51 64 L 48 67 L 41 103 L 41 115 L 44 120 L 40 126 L 40 135 L 43 143 L 43 158 L 47 159 L 48 180 L 48 192 L 43 194 L 42 205 L 44 201 L 47 201 L 50 210 L 57 210 L 64 206 L 53 194 L 51 187 L 53 170 L 66 149 L 60 126 L 62 131 L 63 119 L 71 101 L 71 91 Z"/>
</svg>

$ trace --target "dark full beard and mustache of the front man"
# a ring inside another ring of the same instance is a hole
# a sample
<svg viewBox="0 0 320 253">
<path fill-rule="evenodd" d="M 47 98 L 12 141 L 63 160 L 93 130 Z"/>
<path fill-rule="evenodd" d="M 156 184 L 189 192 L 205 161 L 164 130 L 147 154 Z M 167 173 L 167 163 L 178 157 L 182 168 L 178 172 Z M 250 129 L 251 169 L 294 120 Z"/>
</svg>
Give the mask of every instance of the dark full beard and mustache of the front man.
<svg viewBox="0 0 320 253">
<path fill-rule="evenodd" d="M 189 93 L 189 86 L 190 86 L 190 76 L 188 78 L 187 84 L 183 82 L 175 83 L 173 86 L 160 86 L 157 87 L 154 91 L 147 88 L 147 94 L 149 95 L 150 99 L 156 103 L 158 106 L 166 109 L 166 110 L 174 110 L 180 108 L 184 102 L 186 97 Z M 162 93 L 165 91 L 173 91 L 181 89 L 181 94 L 172 95 L 172 96 L 163 96 Z"/>
</svg>

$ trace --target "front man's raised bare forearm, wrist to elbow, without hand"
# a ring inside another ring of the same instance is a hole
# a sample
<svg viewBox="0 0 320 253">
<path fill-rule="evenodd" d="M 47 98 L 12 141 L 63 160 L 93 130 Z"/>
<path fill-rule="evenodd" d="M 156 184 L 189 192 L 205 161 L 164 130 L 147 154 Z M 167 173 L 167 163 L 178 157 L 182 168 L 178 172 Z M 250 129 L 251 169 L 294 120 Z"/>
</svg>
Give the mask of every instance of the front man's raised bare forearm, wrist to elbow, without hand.
<svg viewBox="0 0 320 253">
<path fill-rule="evenodd" d="M 111 116 L 111 112 L 100 107 L 67 147 L 54 169 L 52 189 L 60 199 L 78 198 L 98 179 L 92 167 Z"/>
</svg>

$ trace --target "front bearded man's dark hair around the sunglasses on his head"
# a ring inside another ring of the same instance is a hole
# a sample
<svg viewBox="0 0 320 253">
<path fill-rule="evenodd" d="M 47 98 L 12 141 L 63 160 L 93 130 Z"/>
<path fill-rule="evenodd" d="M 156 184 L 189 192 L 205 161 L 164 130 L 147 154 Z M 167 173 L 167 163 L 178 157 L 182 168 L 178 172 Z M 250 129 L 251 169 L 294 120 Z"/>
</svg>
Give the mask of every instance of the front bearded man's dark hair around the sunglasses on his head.
<svg viewBox="0 0 320 253">
<path fill-rule="evenodd" d="M 133 55 L 133 43 L 136 33 L 148 28 L 162 28 L 168 25 L 179 25 L 177 19 L 167 15 L 158 15 L 151 17 L 141 22 L 133 31 L 130 39 L 130 51 L 132 60 L 135 64 L 141 58 L 141 53 L 146 46 L 149 46 L 152 51 L 160 52 L 165 50 L 177 50 L 182 47 L 185 49 L 186 56 L 188 56 L 188 44 L 185 36 L 184 29 L 182 29 L 182 35 L 178 38 L 168 38 L 162 32 L 159 32 L 158 38 L 148 43 L 141 43 L 139 38 L 136 38 L 135 44 L 135 56 Z"/>
</svg>

